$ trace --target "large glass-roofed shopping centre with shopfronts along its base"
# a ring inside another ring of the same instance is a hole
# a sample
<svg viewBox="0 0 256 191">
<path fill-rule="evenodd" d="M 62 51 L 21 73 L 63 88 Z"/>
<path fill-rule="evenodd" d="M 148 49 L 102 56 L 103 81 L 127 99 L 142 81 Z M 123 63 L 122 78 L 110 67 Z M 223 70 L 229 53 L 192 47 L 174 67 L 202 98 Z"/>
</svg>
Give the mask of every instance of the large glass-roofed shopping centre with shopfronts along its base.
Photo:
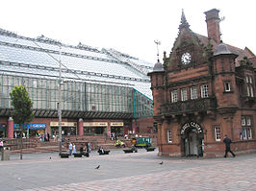
<svg viewBox="0 0 256 191">
<path fill-rule="evenodd" d="M 60 84 L 64 135 L 143 131 L 137 120 L 153 115 L 147 76 L 152 69 L 152 63 L 114 49 L 0 29 L 0 137 L 13 138 L 19 130 L 11 117 L 14 84 L 24 85 L 33 101 L 35 119 L 27 137 L 58 134 Z"/>
</svg>

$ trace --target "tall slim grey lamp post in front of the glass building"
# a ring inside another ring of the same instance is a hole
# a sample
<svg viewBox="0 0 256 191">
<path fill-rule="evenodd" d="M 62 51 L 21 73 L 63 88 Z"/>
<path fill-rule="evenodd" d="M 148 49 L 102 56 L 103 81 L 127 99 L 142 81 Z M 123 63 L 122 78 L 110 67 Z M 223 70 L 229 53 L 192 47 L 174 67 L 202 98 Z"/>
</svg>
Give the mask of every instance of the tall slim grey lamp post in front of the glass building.
<svg viewBox="0 0 256 191">
<path fill-rule="evenodd" d="M 58 114 L 59 114 L 59 155 L 62 155 L 62 46 L 60 45 L 60 71 L 59 71 L 59 103 L 58 103 Z"/>
</svg>

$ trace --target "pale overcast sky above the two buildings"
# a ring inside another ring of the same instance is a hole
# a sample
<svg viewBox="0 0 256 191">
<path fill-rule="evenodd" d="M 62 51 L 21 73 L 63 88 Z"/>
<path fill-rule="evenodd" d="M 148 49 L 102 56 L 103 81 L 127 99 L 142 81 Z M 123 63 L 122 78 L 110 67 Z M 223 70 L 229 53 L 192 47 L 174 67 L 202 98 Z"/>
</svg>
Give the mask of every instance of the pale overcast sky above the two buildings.
<svg viewBox="0 0 256 191">
<path fill-rule="evenodd" d="M 155 63 L 170 52 L 182 9 L 194 33 L 207 36 L 205 14 L 218 9 L 222 39 L 256 53 L 254 0 L 1 0 L 0 28 L 66 44 L 114 48 Z"/>
</svg>

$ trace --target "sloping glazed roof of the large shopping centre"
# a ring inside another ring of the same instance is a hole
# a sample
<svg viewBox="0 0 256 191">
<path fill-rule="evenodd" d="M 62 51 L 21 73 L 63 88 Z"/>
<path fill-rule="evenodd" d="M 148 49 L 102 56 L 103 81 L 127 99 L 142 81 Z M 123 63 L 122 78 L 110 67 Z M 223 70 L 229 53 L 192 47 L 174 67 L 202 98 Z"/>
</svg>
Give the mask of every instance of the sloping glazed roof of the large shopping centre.
<svg viewBox="0 0 256 191">
<path fill-rule="evenodd" d="M 14 37 L 14 36 L 2 36 L 0 35 L 1 42 L 9 42 L 12 44 L 20 44 L 32 47 L 41 47 L 43 49 L 59 51 L 59 46 L 55 44 L 48 44 L 43 42 L 34 43 L 29 38 Z M 37 45 L 38 44 L 38 45 Z M 117 62 L 113 57 L 110 57 L 107 53 L 88 51 L 77 49 L 71 46 L 62 46 L 62 51 L 66 53 L 72 53 L 82 56 L 88 56 L 90 59 L 62 55 L 63 73 L 62 76 L 67 80 L 83 80 L 87 82 L 96 82 L 100 84 L 116 84 L 116 85 L 128 85 L 138 89 L 144 95 L 152 98 L 150 90 L 150 83 L 138 82 L 135 79 L 147 79 L 149 77 L 141 74 L 131 65 Z M 94 57 L 91 58 L 91 57 Z M 107 60 L 102 60 L 107 59 Z M 10 74 L 16 76 L 28 76 L 34 78 L 56 79 L 59 78 L 59 54 L 30 50 L 25 47 L 14 47 L 10 45 L 0 45 L 0 60 L 11 62 L 12 65 L 0 63 L 0 73 Z M 112 61 L 108 61 L 112 60 Z M 130 58 L 130 60 L 143 66 L 150 66 L 147 61 L 137 60 Z M 14 65 L 13 65 L 14 64 Z M 29 64 L 18 66 L 17 64 Z M 46 67 L 46 68 L 44 68 Z M 47 68 L 48 67 L 48 68 Z M 54 68 L 56 69 L 54 69 Z M 78 71 L 76 71 L 78 70 Z M 81 74 L 83 71 L 85 73 Z M 76 73 L 78 72 L 78 73 Z M 91 75 L 86 74 L 90 72 Z M 116 77 L 115 77 L 116 76 Z M 121 77 L 121 78 L 119 78 Z"/>
</svg>

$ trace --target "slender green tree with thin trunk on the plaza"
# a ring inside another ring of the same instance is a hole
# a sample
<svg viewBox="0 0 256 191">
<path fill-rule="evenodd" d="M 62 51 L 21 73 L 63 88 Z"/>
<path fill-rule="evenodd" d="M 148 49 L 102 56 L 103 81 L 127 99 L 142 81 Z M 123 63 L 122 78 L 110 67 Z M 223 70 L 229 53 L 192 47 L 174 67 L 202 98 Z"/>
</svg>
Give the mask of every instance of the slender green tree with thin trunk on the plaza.
<svg viewBox="0 0 256 191">
<path fill-rule="evenodd" d="M 20 159 L 22 159 L 23 140 L 22 134 L 25 131 L 25 125 L 34 118 L 33 102 L 31 101 L 27 89 L 23 85 L 15 85 L 10 93 L 11 105 L 13 106 L 13 122 L 21 129 L 20 136 Z"/>
</svg>

